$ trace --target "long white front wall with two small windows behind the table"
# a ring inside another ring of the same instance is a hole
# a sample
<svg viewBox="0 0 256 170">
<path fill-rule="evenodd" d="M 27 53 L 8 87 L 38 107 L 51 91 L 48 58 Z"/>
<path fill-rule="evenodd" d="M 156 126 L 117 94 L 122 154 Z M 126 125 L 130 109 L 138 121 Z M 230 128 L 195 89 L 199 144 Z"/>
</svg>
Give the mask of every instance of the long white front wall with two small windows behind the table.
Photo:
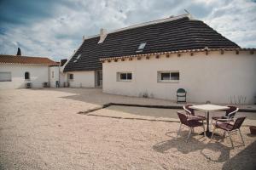
<svg viewBox="0 0 256 170">
<path fill-rule="evenodd" d="M 190 102 L 229 104 L 230 97 L 246 97 L 252 104 L 256 95 L 256 56 L 249 52 L 172 54 L 155 59 L 143 57 L 103 63 L 103 93 L 140 96 L 147 92 L 157 99 L 176 100 L 177 88 L 185 88 Z M 131 71 L 131 82 L 117 82 L 117 72 Z M 179 82 L 158 82 L 157 71 L 179 71 Z"/>
</svg>

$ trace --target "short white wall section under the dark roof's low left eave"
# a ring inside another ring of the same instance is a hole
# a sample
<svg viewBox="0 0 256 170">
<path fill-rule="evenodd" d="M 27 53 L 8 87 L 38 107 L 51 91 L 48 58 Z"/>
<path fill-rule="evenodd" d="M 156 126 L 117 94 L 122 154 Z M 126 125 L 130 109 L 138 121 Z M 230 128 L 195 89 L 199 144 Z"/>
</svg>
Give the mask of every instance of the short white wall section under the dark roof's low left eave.
<svg viewBox="0 0 256 170">
<path fill-rule="evenodd" d="M 75 88 L 95 88 L 95 71 L 73 71 L 73 80 L 68 80 L 70 87 Z"/>
</svg>

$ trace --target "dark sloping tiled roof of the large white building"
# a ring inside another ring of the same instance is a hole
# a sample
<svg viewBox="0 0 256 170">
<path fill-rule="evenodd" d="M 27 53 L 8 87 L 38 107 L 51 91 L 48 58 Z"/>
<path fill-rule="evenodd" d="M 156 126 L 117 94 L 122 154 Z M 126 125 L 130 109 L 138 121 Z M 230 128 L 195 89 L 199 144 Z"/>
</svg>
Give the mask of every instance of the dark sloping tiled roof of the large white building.
<svg viewBox="0 0 256 170">
<path fill-rule="evenodd" d="M 139 26 L 108 33 L 105 41 L 100 37 L 85 39 L 69 60 L 64 71 L 102 70 L 101 58 L 134 54 L 150 54 L 167 51 L 201 48 L 239 48 L 235 42 L 223 37 L 201 20 L 183 17 L 148 26 Z M 143 52 L 137 53 L 141 42 L 147 42 Z M 77 56 L 81 54 L 79 59 Z M 77 60 L 77 62 L 73 62 Z"/>
</svg>

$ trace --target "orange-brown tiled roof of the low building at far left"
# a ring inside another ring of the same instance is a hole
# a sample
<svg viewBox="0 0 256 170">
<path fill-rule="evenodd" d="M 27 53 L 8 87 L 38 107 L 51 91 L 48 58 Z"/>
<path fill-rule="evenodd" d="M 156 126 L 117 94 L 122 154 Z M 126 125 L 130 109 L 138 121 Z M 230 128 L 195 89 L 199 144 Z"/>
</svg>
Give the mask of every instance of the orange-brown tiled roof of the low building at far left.
<svg viewBox="0 0 256 170">
<path fill-rule="evenodd" d="M 55 61 L 45 57 L 28 57 L 20 55 L 0 54 L 0 63 L 24 65 L 58 65 Z"/>
</svg>

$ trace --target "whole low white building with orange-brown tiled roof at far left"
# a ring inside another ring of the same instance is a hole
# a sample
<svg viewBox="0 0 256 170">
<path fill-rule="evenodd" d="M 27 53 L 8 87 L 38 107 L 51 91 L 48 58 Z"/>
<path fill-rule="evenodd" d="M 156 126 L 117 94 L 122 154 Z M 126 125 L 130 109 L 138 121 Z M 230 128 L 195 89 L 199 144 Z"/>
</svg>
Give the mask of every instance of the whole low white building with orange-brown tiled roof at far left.
<svg viewBox="0 0 256 170">
<path fill-rule="evenodd" d="M 0 55 L 0 89 L 55 87 L 59 65 L 48 58 Z"/>
</svg>

